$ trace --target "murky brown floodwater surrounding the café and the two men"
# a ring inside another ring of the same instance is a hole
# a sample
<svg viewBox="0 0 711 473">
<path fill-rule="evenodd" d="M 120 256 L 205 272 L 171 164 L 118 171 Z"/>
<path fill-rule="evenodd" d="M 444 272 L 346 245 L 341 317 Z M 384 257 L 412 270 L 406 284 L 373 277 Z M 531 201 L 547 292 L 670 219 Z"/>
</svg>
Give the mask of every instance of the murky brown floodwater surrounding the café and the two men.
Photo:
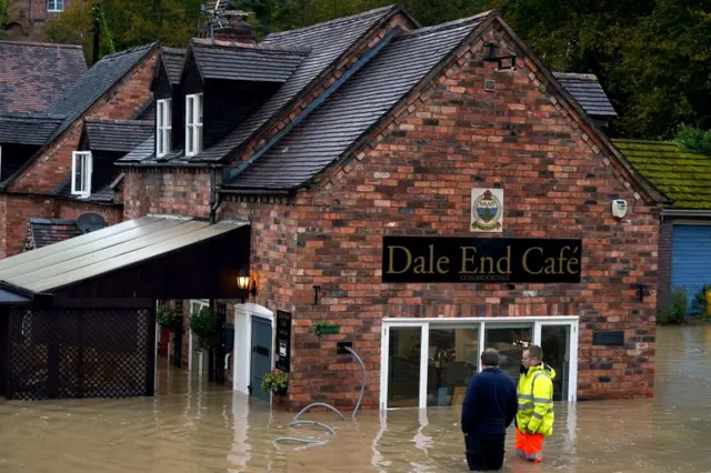
<svg viewBox="0 0 711 473">
<path fill-rule="evenodd" d="M 654 400 L 560 404 L 540 465 L 504 472 L 711 472 L 711 326 L 659 331 Z M 152 399 L 0 403 L 0 472 L 464 472 L 459 409 L 306 419 L 161 368 Z M 279 436 L 326 445 L 273 444 Z"/>
</svg>

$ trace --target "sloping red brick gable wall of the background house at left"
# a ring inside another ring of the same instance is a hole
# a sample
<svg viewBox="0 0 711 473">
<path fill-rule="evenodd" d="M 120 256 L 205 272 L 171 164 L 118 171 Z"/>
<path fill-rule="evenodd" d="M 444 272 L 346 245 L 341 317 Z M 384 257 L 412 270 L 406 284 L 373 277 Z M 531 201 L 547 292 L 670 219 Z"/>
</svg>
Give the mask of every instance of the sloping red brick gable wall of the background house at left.
<svg viewBox="0 0 711 473">
<path fill-rule="evenodd" d="M 157 53 L 149 56 L 97 103 L 84 118 L 129 119 L 151 97 L 149 90 Z M 77 120 L 46 152 L 34 160 L 11 185 L 10 192 L 51 192 L 71 173 L 71 155 L 81 137 L 82 120 Z"/>
</svg>

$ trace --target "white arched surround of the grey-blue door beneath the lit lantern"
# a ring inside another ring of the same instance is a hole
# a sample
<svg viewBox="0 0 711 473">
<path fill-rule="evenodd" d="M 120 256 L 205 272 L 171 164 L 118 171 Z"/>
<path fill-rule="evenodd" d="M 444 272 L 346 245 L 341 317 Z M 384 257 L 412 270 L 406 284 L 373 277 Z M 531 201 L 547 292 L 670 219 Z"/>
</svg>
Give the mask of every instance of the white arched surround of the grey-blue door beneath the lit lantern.
<svg viewBox="0 0 711 473">
<path fill-rule="evenodd" d="M 249 395 L 247 386 L 252 382 L 252 316 L 266 319 L 271 324 L 271 360 L 270 364 L 274 369 L 274 343 L 277 331 L 277 320 L 274 313 L 269 309 L 248 302 L 234 305 L 234 352 L 232 353 L 232 390 Z M 246 318 L 246 323 L 239 323 L 240 318 Z M 238 333 L 238 328 L 243 326 L 243 333 Z M 238 355 L 237 350 L 242 348 Z M 238 368 L 242 370 L 239 373 Z"/>
</svg>

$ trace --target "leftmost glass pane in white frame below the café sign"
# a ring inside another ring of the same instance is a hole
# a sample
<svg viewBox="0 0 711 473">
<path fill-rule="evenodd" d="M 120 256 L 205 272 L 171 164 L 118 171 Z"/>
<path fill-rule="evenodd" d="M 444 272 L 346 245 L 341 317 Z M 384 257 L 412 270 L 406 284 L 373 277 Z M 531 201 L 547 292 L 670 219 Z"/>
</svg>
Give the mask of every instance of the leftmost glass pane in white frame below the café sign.
<svg viewBox="0 0 711 473">
<path fill-rule="evenodd" d="M 422 329 L 391 328 L 388 353 L 388 407 L 418 407 Z"/>
</svg>

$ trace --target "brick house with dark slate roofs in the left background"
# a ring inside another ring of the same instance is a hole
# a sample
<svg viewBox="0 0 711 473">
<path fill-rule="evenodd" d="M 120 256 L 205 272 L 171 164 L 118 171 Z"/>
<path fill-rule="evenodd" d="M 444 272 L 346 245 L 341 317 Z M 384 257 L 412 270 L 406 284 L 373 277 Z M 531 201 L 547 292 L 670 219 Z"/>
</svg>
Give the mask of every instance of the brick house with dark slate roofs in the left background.
<svg viewBox="0 0 711 473">
<path fill-rule="evenodd" d="M 74 76 L 50 74 L 44 82 L 33 81 L 34 93 L 28 89 L 32 85 L 28 85 L 27 79 L 37 74 L 24 76 L 32 69 L 31 53 L 16 54 L 17 66 L 3 71 L 9 79 L 14 78 L 2 90 L 8 97 L 6 102 L 12 105 L 11 111 L 22 113 L 0 113 L 0 140 L 6 140 L 0 141 L 6 151 L 0 182 L 1 256 L 54 241 L 36 238 L 37 232 L 70 236 L 86 231 L 76 221 L 80 215 L 92 214 L 86 219 L 103 220 L 109 225 L 120 222 L 123 210 L 114 191 L 120 180 L 117 181 L 119 173 L 113 159 L 137 144 L 131 141 L 134 137 L 142 141 L 146 127 L 152 129 L 149 84 L 158 56 L 157 43 L 109 54 L 89 70 L 80 48 L 69 49 L 77 58 L 68 59 L 62 56 L 66 50 L 62 46 L 22 47 L 59 58 L 49 61 L 54 69 L 64 64 L 64 69 L 71 70 L 67 62 L 73 64 L 81 59 L 84 70 Z M 34 69 L 41 64 L 42 61 L 34 61 Z M 41 68 L 36 72 L 40 71 Z M 67 231 L 71 221 L 73 230 Z M 34 228 L 34 223 L 39 227 Z M 58 228 L 52 229 L 52 224 Z"/>
</svg>

